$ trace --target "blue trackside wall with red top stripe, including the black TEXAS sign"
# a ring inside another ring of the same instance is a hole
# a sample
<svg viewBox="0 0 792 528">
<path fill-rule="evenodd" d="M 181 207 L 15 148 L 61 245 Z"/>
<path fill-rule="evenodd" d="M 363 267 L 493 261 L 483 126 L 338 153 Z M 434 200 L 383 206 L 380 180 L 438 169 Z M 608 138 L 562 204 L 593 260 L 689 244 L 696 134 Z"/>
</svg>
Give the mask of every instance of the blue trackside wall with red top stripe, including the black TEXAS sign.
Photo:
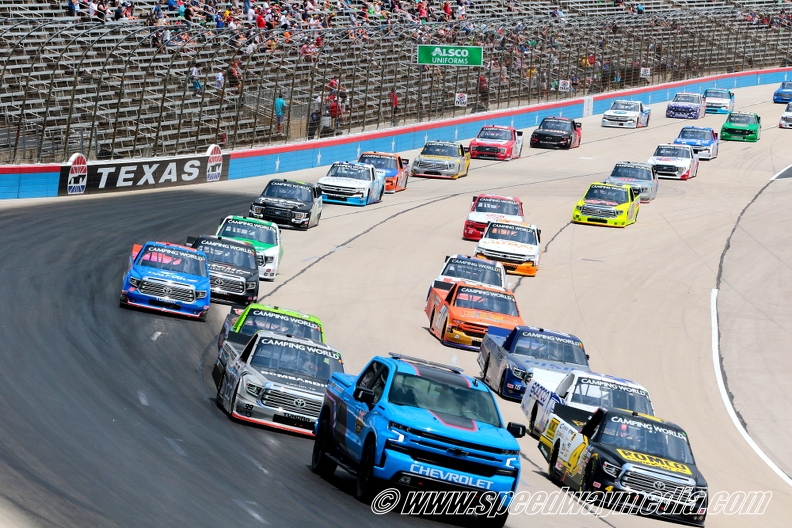
<svg viewBox="0 0 792 528">
<path fill-rule="evenodd" d="M 484 124 L 516 128 L 536 126 L 544 117 L 579 118 L 601 114 L 616 99 L 647 104 L 668 101 L 678 91 L 742 88 L 780 83 L 792 78 L 792 68 L 775 68 L 714 75 L 644 88 L 598 94 L 464 117 L 362 132 L 249 150 L 222 152 L 211 145 L 203 154 L 151 159 L 87 161 L 75 154 L 68 163 L 0 165 L 0 198 L 42 198 L 174 185 L 192 185 L 255 176 L 271 176 L 333 161 L 357 159 L 360 152 L 401 152 L 420 148 L 429 139 L 454 141 L 473 137 Z"/>
</svg>

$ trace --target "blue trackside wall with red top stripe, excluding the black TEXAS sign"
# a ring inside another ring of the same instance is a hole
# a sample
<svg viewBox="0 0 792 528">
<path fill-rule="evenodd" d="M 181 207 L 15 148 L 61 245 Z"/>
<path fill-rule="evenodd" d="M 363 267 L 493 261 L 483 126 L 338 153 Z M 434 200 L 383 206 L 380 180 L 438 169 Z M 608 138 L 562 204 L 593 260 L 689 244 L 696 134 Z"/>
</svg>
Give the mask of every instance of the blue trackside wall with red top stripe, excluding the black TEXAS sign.
<svg viewBox="0 0 792 528">
<path fill-rule="evenodd" d="M 707 88 L 743 88 L 748 86 L 776 84 L 792 77 L 792 68 L 755 70 L 716 75 L 700 79 L 678 81 L 662 85 L 599 94 L 589 98 L 567 99 L 553 103 L 531 105 L 522 108 L 473 114 L 455 119 L 445 119 L 414 126 L 393 128 L 384 131 L 366 132 L 330 139 L 289 145 L 265 147 L 260 149 L 231 151 L 223 154 L 222 179 L 240 179 L 255 176 L 275 175 L 299 169 L 328 165 L 339 160 L 357 159 L 361 152 L 402 152 L 417 149 L 427 140 L 454 141 L 475 136 L 482 125 L 504 125 L 524 129 L 536 126 L 547 116 L 580 118 L 589 114 L 601 114 L 610 108 L 617 99 L 642 101 L 647 104 L 668 101 L 679 91 L 703 92 Z M 587 108 L 588 107 L 588 108 Z M 215 147 L 216 149 L 216 147 Z M 211 150 L 211 149 L 210 149 Z M 208 158 L 206 154 L 197 154 Z M 72 157 L 75 159 L 77 155 Z M 129 164 L 159 163 L 163 166 L 172 160 L 183 159 L 156 158 L 152 160 L 128 160 Z M 120 163 L 118 161 L 115 164 Z M 206 162 L 204 162 L 206 163 Z M 87 174 L 97 172 L 103 162 L 88 162 Z M 107 162 L 104 162 L 107 164 Z M 109 170 L 109 169 L 108 169 Z M 145 169 L 141 167 L 141 174 Z M 77 171 L 79 172 L 79 171 Z M 203 172 L 203 171 L 202 171 Z M 0 198 L 43 198 L 81 192 L 67 192 L 69 178 L 74 179 L 75 170 L 71 163 L 62 165 L 0 165 Z M 88 181 L 93 181 L 89 177 Z M 218 178 L 220 179 L 220 178 Z M 130 181 L 135 181 L 131 178 Z M 142 180 L 138 180 L 140 183 Z M 205 183 L 205 177 L 180 181 L 187 185 Z M 132 185 L 117 190 L 136 190 L 158 185 Z M 90 191 L 90 183 L 88 185 Z M 61 192 L 59 193 L 59 189 Z"/>
</svg>

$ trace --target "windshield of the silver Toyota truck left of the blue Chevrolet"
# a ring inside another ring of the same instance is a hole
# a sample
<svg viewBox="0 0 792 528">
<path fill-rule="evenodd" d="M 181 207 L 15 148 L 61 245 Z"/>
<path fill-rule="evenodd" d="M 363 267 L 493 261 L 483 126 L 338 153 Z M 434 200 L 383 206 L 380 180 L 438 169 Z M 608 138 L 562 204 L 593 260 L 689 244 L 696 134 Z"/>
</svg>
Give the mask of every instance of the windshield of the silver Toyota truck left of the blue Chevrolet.
<svg viewBox="0 0 792 528">
<path fill-rule="evenodd" d="M 288 371 L 321 380 L 329 380 L 334 372 L 344 372 L 338 352 L 267 337 L 256 346 L 250 366 Z"/>
</svg>

